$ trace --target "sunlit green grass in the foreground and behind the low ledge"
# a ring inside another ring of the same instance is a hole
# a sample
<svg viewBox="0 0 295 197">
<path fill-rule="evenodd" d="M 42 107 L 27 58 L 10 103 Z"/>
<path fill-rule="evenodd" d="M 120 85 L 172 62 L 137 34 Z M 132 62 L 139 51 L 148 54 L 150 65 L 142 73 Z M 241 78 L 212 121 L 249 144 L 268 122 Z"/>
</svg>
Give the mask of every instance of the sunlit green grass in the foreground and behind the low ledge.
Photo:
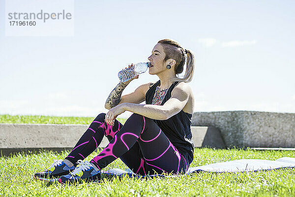
<svg viewBox="0 0 295 197">
<path fill-rule="evenodd" d="M 9 117 L 7 120 L 3 116 Z M 0 115 L 1 123 L 59 123 L 89 124 L 93 118 L 16 117 Z M 122 121 L 124 122 L 124 120 Z M 205 197 L 294 197 L 295 169 L 278 169 L 242 173 L 200 172 L 175 178 L 129 178 L 103 176 L 100 183 L 79 185 L 48 184 L 37 181 L 32 175 L 45 170 L 54 160 L 63 159 L 68 151 L 57 153 L 41 151 L 30 154 L 14 154 L 0 157 L 0 196 L 205 196 Z M 92 153 L 90 160 L 97 153 Z M 257 151 L 242 149 L 214 150 L 196 148 L 191 166 L 212 164 L 237 159 L 276 160 L 281 157 L 295 157 L 295 151 Z M 108 165 L 109 168 L 125 169 L 120 160 Z"/>
</svg>

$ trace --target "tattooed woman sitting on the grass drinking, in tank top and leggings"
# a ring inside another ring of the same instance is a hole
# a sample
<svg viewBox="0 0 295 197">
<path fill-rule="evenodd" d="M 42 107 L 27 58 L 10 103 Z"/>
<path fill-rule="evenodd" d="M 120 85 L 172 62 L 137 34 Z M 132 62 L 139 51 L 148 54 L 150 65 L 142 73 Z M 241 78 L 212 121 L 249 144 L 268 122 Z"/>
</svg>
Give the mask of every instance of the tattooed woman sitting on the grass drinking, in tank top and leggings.
<svg viewBox="0 0 295 197">
<path fill-rule="evenodd" d="M 185 60 L 185 75 L 177 78 Z M 143 84 L 122 97 L 124 88 L 138 75 L 118 83 L 105 103 L 109 112 L 94 119 L 64 160 L 55 161 L 34 177 L 60 176 L 60 183 L 99 180 L 100 170 L 118 158 L 140 175 L 187 170 L 194 151 L 190 130 L 194 96 L 187 84 L 193 77 L 194 55 L 175 40 L 163 39 L 154 46 L 148 61 L 149 74 L 156 74 L 160 80 Z M 139 104 L 145 100 L 146 104 Z M 116 117 L 124 111 L 133 114 L 122 125 Z M 108 146 L 90 162 L 83 162 L 100 144 L 103 135 L 110 141 Z"/>
</svg>

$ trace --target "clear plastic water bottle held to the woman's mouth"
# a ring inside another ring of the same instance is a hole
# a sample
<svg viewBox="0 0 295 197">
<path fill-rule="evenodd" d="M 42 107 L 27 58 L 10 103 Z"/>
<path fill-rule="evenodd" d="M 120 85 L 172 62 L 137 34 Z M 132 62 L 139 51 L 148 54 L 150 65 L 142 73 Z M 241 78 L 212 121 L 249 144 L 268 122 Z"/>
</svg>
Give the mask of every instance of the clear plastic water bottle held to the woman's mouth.
<svg viewBox="0 0 295 197">
<path fill-rule="evenodd" d="M 134 65 L 132 67 L 128 67 L 128 68 L 125 68 L 125 69 L 122 69 L 121 71 L 119 71 L 118 77 L 121 82 L 126 82 L 126 81 L 129 81 L 130 79 L 132 79 L 134 76 L 147 71 L 148 67 L 149 67 L 149 62 L 137 63 L 136 65 Z"/>
</svg>

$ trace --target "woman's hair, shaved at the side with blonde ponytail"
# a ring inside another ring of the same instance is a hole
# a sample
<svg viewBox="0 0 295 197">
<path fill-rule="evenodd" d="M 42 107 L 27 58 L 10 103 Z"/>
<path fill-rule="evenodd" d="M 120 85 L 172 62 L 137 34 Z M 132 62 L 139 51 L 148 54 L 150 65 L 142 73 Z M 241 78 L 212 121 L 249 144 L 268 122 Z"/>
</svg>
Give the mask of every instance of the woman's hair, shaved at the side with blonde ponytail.
<svg viewBox="0 0 295 197">
<path fill-rule="evenodd" d="M 183 78 L 173 77 L 169 80 L 171 82 L 190 82 L 193 78 L 195 68 L 195 56 L 193 52 L 188 49 L 183 49 L 177 41 L 172 39 L 163 39 L 158 41 L 158 43 L 162 44 L 164 48 L 164 53 L 166 54 L 163 64 L 168 59 L 174 59 L 176 61 L 176 65 L 174 67 L 176 74 L 180 74 L 183 71 L 183 66 L 186 59 L 186 70 Z"/>
</svg>

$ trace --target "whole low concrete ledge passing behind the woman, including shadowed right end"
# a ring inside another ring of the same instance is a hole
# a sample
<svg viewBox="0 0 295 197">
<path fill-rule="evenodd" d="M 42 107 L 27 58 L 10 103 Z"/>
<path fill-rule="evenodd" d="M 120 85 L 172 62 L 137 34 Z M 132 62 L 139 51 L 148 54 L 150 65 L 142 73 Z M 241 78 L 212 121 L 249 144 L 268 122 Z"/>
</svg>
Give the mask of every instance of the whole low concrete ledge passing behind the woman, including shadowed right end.
<svg viewBox="0 0 295 197">
<path fill-rule="evenodd" d="M 57 124 L 0 124 L 0 151 L 2 155 L 14 152 L 67 150 L 75 146 L 89 125 Z M 225 148 L 220 131 L 214 127 L 192 127 L 195 147 Z M 106 147 L 104 137 L 98 147 Z"/>
</svg>

